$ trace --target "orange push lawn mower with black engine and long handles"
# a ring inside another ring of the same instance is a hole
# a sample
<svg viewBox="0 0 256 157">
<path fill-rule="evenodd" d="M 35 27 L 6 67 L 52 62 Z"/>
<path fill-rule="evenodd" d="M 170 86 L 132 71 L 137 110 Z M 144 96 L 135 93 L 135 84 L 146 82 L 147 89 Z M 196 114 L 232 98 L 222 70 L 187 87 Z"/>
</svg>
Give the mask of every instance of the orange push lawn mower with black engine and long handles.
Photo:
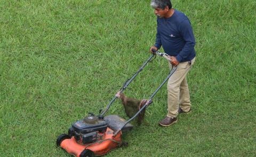
<svg viewBox="0 0 256 157">
<path fill-rule="evenodd" d="M 135 77 L 142 71 L 148 62 L 155 56 L 163 56 L 166 59 L 168 55 L 166 53 L 160 53 L 159 51 L 153 50 L 153 54 L 146 60 L 140 69 L 127 80 L 119 92 L 123 92 L 127 86 L 135 79 Z M 66 150 L 68 153 L 77 157 L 91 157 L 100 156 L 108 153 L 111 150 L 116 149 L 126 143 L 122 142 L 122 132 L 130 131 L 133 125 L 130 123 L 135 117 L 137 117 L 143 109 L 146 109 L 149 104 L 153 101 L 154 95 L 169 79 L 169 77 L 175 72 L 177 67 L 173 67 L 170 74 L 166 77 L 161 85 L 154 91 L 145 105 L 139 109 L 139 111 L 129 120 L 119 117 L 118 115 L 104 116 L 111 104 L 116 100 L 117 96 L 109 102 L 106 109 L 100 111 L 98 116 L 93 113 L 89 113 L 85 118 L 76 121 L 69 129 L 68 134 L 61 134 L 57 138 L 57 146 Z"/>
</svg>

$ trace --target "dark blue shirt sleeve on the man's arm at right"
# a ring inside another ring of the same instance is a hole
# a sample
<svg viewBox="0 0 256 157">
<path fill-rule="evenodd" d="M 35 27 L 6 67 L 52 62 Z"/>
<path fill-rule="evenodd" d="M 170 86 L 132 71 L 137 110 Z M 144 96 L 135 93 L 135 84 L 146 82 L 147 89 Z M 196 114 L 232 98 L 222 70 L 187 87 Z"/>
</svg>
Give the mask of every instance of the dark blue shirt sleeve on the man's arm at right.
<svg viewBox="0 0 256 157">
<path fill-rule="evenodd" d="M 196 40 L 194 37 L 193 29 L 189 20 L 184 20 L 181 22 L 179 31 L 183 40 L 185 40 L 185 45 L 180 51 L 180 53 L 176 56 L 176 59 L 181 62 L 184 58 L 187 58 L 189 54 L 193 51 Z"/>
</svg>

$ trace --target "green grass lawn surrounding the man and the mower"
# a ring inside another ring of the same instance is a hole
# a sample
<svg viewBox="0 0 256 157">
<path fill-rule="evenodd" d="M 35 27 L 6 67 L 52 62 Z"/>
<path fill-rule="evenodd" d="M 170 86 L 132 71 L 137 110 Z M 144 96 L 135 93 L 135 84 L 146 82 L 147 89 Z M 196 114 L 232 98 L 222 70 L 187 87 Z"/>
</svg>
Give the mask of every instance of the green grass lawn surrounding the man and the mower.
<svg viewBox="0 0 256 157">
<path fill-rule="evenodd" d="M 256 2 L 172 1 L 189 17 L 196 63 L 188 74 L 193 111 L 158 126 L 166 85 L 129 143 L 106 156 L 256 155 Z M 98 114 L 149 57 L 156 16 L 150 1 L 0 1 L 0 156 L 70 156 L 56 147 L 88 112 Z M 163 50 L 162 50 L 163 51 Z M 142 99 L 169 73 L 157 57 L 125 94 Z M 126 118 L 120 101 L 108 114 Z"/>
</svg>

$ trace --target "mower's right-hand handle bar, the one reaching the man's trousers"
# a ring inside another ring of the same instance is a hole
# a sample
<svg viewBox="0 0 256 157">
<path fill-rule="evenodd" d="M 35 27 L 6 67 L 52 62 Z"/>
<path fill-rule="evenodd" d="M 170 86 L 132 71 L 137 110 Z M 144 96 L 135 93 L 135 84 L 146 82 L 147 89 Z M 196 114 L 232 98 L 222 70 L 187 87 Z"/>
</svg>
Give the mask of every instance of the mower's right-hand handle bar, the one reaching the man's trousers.
<svg viewBox="0 0 256 157">
<path fill-rule="evenodd" d="M 170 72 L 170 74 L 165 78 L 165 80 L 162 82 L 161 85 L 158 86 L 158 88 L 154 91 L 154 93 L 150 96 L 149 100 L 146 102 L 146 104 L 132 117 L 130 118 L 129 120 L 126 121 L 126 123 L 119 129 L 116 130 L 116 132 L 114 133 L 113 136 L 116 136 L 118 132 L 120 132 L 124 127 L 125 125 L 127 125 L 128 123 L 130 123 L 130 121 L 132 121 L 135 117 L 137 117 L 140 112 L 145 109 L 146 107 L 149 106 L 149 104 L 151 104 L 153 101 L 152 99 L 154 98 L 155 94 L 159 91 L 159 89 L 162 88 L 162 86 L 164 85 L 164 83 L 172 76 L 172 74 L 176 71 L 177 69 L 177 66 L 174 66 Z"/>
</svg>

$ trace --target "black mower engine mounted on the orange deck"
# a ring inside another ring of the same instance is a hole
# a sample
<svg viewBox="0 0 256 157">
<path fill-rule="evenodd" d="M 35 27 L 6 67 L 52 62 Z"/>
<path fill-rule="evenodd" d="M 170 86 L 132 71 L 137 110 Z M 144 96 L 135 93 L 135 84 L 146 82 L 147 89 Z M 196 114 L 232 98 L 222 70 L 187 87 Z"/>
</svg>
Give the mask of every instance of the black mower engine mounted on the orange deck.
<svg viewBox="0 0 256 157">
<path fill-rule="evenodd" d="M 107 130 L 105 120 L 95 117 L 93 114 L 77 121 L 68 129 L 69 137 L 74 136 L 77 143 L 86 144 L 97 142 L 103 138 Z"/>
</svg>

